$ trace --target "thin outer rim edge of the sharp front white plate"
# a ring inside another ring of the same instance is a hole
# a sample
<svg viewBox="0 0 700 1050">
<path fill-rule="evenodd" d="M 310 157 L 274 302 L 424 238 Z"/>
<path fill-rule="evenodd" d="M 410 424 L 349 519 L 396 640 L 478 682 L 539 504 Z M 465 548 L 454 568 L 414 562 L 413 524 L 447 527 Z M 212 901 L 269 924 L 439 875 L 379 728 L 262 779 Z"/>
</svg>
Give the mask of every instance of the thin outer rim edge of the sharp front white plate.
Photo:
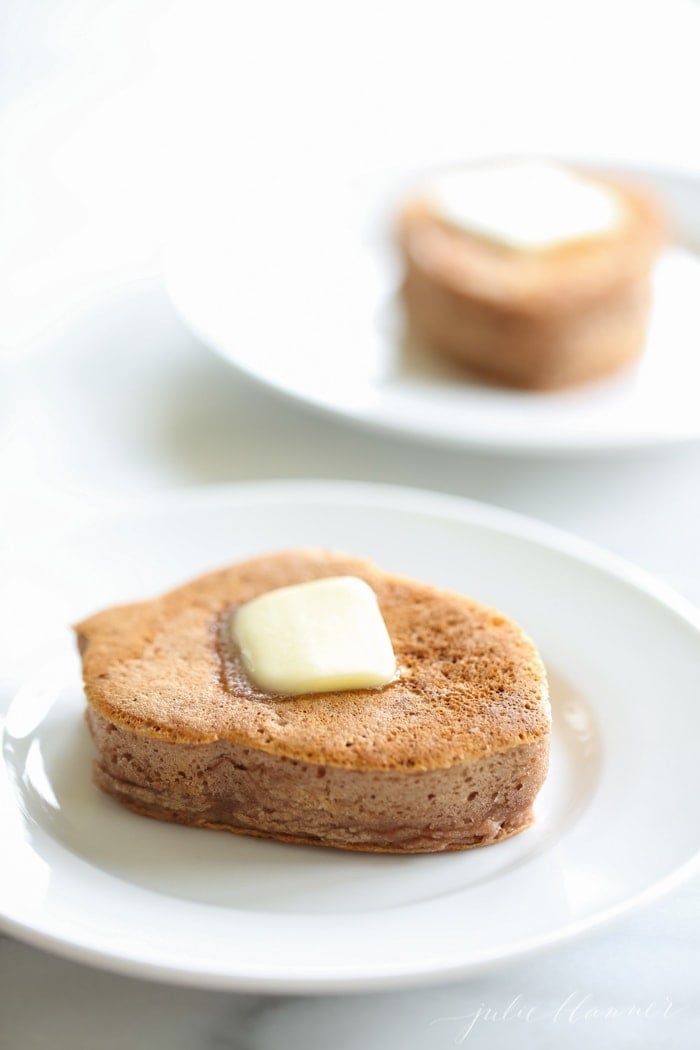
<svg viewBox="0 0 700 1050">
<path fill-rule="evenodd" d="M 641 591 L 648 598 L 660 604 L 674 613 L 685 627 L 694 629 L 700 642 L 700 609 L 672 587 L 659 581 L 652 573 L 639 568 L 633 563 L 611 553 L 603 547 L 580 539 L 572 532 L 549 525 L 535 518 L 522 514 L 503 507 L 467 498 L 452 496 L 430 489 L 408 486 L 380 484 L 372 482 L 325 481 L 322 479 L 283 479 L 272 481 L 253 481 L 234 484 L 218 484 L 200 488 L 173 489 L 155 494 L 146 498 L 134 497 L 125 501 L 119 509 L 107 509 L 102 516 L 90 522 L 71 529 L 73 537 L 83 529 L 99 528 L 105 519 L 109 521 L 121 518 L 131 518 L 140 514 L 145 518 L 173 510 L 179 507 L 183 511 L 189 509 L 215 511 L 218 507 L 246 504 L 254 506 L 260 502 L 288 502 L 293 496 L 298 504 L 339 503 L 367 505 L 389 510 L 419 512 L 429 517 L 443 517 L 451 521 L 462 521 L 491 530 L 505 533 L 508 537 L 523 539 L 535 543 L 542 548 L 552 549 L 584 563 L 589 568 L 602 571 L 606 576 L 613 576 L 619 583 L 632 586 Z M 59 537 L 57 544 L 64 542 L 66 537 Z M 21 684 L 23 688 L 26 684 Z M 0 717 L 0 731 L 4 736 L 4 715 Z M 338 994 L 362 992 L 369 990 L 389 990 L 398 988 L 423 987 L 437 983 L 446 983 L 465 979 L 470 975 L 486 972 L 508 962 L 535 957 L 549 948 L 570 943 L 588 932 L 592 932 L 624 915 L 637 910 L 658 899 L 673 888 L 686 882 L 700 867 L 700 850 L 696 852 L 682 864 L 656 880 L 636 895 L 625 898 L 608 907 L 603 907 L 591 916 L 574 920 L 536 937 L 528 937 L 517 942 L 511 942 L 508 950 L 503 947 L 494 952 L 482 953 L 478 963 L 453 965 L 449 967 L 429 966 L 409 968 L 397 967 L 391 973 L 381 976 L 362 978 L 336 975 L 330 979 L 317 976 L 284 976 L 276 978 L 256 973 L 222 972 L 219 967 L 196 969 L 184 965 L 182 960 L 173 963 L 158 964 L 152 961 L 115 954 L 104 948 L 90 946 L 79 941 L 69 941 L 56 933 L 47 933 L 38 925 L 20 922 L 8 917 L 0 902 L 0 928 L 19 940 L 35 947 L 47 950 L 62 958 L 71 959 L 100 969 L 119 972 L 155 981 L 166 981 L 170 984 L 188 987 L 200 987 L 218 990 L 238 990 L 259 993 L 314 993 Z"/>
</svg>

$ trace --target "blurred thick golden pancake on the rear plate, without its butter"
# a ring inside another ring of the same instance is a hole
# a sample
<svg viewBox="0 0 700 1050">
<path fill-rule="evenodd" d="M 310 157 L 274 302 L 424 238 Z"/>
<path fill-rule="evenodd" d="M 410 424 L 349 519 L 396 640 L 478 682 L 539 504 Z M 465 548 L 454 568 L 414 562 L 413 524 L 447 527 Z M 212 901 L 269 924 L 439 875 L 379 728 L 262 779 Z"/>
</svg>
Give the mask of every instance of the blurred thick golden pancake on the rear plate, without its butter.
<svg viewBox="0 0 700 1050">
<path fill-rule="evenodd" d="M 419 342 L 526 390 L 587 382 L 638 358 L 665 222 L 638 187 L 586 178 L 616 195 L 620 220 L 540 250 L 513 250 L 452 225 L 426 193 L 407 200 L 398 220 L 402 296 Z"/>
</svg>

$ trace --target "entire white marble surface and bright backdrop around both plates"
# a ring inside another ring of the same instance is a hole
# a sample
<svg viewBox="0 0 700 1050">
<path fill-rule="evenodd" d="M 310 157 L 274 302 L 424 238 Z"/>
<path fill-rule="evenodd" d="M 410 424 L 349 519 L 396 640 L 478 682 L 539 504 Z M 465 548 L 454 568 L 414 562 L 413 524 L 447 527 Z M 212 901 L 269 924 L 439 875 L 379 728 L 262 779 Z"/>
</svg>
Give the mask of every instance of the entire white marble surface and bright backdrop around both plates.
<svg viewBox="0 0 700 1050">
<path fill-rule="evenodd" d="M 2 6 L 0 583 L 22 551 L 127 494 L 327 477 L 525 511 L 700 604 L 700 446 L 569 462 L 357 433 L 237 377 L 185 331 L 157 278 L 173 214 L 196 210 L 214 173 L 248 185 L 280 156 L 328 171 L 352 159 L 363 175 L 504 149 L 700 171 L 698 5 L 375 0 L 342 25 L 314 0 L 264 0 L 242 18 L 245 6 Z M 21 597 L 4 596 L 0 710 L 35 645 Z M 0 937 L 0 1046 L 692 1050 L 699 931 L 696 880 L 460 985 L 346 999 L 175 989 Z"/>
</svg>

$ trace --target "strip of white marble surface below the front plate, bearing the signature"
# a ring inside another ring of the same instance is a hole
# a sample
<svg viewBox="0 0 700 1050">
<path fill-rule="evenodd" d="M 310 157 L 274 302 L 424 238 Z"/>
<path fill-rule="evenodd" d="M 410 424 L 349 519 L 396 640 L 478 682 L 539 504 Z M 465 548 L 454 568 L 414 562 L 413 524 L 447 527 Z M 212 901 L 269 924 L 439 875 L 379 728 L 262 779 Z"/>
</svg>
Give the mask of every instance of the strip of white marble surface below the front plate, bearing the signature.
<svg viewBox="0 0 700 1050">
<path fill-rule="evenodd" d="M 0 942 L 0 1040 L 25 1050 L 693 1050 L 697 896 L 536 963 L 423 991 L 263 998 L 171 989 Z M 685 932 L 683 932 L 685 931 Z"/>
</svg>

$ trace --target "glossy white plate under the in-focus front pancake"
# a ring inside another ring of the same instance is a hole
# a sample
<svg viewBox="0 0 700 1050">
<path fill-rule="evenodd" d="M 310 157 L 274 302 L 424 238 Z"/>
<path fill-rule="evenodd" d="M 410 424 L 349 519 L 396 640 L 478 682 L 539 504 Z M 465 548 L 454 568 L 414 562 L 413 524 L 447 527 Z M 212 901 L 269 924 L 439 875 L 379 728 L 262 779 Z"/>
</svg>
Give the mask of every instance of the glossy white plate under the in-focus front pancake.
<svg viewBox="0 0 700 1050">
<path fill-rule="evenodd" d="M 455 979 L 620 915 L 698 848 L 700 635 L 652 581 L 544 525 L 406 489 L 242 485 L 160 500 L 38 553 L 63 623 L 254 552 L 325 544 L 519 621 L 551 676 L 536 822 L 463 854 L 382 857 L 158 823 L 90 782 L 72 638 L 15 698 L 0 911 L 40 946 L 142 976 L 326 991 Z M 43 632 L 42 632 L 43 633 Z"/>
</svg>

